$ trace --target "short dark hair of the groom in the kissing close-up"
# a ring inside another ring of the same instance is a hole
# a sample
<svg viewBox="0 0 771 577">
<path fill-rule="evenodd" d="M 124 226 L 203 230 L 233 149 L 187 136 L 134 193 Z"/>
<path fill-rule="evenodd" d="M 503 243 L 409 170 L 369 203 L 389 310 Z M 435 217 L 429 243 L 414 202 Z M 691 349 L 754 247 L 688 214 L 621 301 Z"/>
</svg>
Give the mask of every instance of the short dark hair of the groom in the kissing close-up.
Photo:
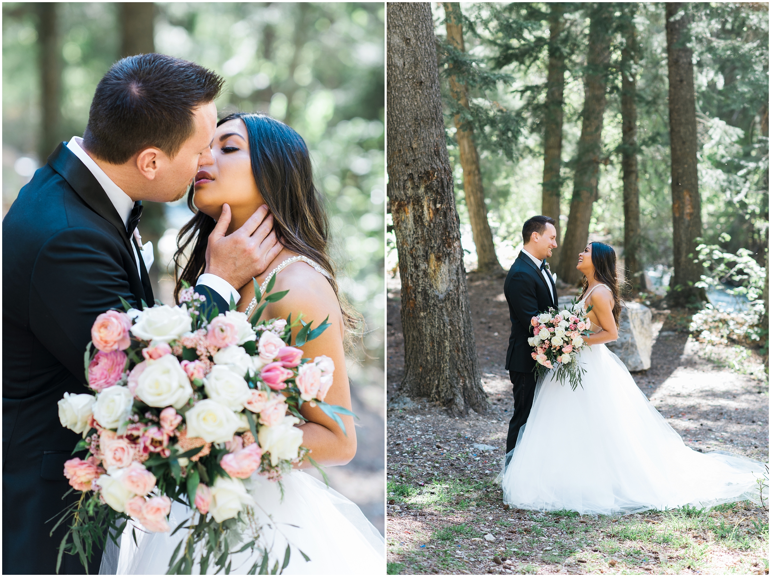
<svg viewBox="0 0 771 577">
<path fill-rule="evenodd" d="M 96 86 L 83 145 L 110 164 L 157 146 L 173 158 L 194 133 L 194 109 L 219 96 L 224 80 L 164 54 L 129 56 Z"/>
</svg>

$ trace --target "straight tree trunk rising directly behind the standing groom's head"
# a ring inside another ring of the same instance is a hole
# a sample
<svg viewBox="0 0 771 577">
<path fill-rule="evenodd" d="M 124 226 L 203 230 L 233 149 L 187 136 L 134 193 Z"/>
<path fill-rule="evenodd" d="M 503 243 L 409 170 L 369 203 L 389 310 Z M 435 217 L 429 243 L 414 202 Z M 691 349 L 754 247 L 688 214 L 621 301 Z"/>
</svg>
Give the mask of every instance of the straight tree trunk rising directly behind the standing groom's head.
<svg viewBox="0 0 771 577">
<path fill-rule="evenodd" d="M 557 223 L 557 246 L 551 252 L 549 264 L 557 270 L 560 262 L 560 168 L 562 166 L 562 104 L 565 89 L 565 58 L 560 35 L 564 29 L 564 5 L 550 5 L 549 70 L 546 81 L 546 117 L 544 118 L 544 187 L 540 213 L 551 216 Z"/>
</svg>

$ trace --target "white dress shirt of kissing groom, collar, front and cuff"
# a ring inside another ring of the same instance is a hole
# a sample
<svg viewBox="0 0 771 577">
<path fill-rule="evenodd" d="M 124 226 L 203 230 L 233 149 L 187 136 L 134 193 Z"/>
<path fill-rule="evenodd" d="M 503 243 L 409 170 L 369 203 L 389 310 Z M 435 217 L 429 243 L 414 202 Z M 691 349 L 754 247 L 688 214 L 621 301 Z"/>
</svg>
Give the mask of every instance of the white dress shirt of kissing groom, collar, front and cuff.
<svg viewBox="0 0 771 577">
<path fill-rule="evenodd" d="M 129 217 L 131 216 L 131 210 L 133 210 L 134 207 L 134 201 L 131 200 L 129 195 L 121 190 L 120 186 L 116 185 L 116 183 L 113 183 L 109 176 L 106 175 L 104 170 L 99 168 L 99 165 L 96 164 L 94 159 L 91 158 L 86 153 L 86 151 L 82 149 L 82 142 L 83 139 L 79 136 L 72 136 L 72 138 L 69 139 L 67 148 L 73 154 L 75 154 L 75 156 L 77 156 L 83 164 L 86 165 L 86 168 L 89 169 L 89 171 L 91 171 L 94 178 L 96 178 L 96 181 L 104 189 L 104 192 L 106 193 L 109 200 L 113 203 L 113 206 L 115 206 L 115 210 L 118 211 L 118 215 L 120 216 L 121 220 L 123 220 L 123 226 L 126 226 L 127 229 Z M 136 262 L 136 270 L 140 272 L 141 277 L 142 272 L 140 269 L 139 256 L 136 253 L 136 246 L 134 243 L 130 244 L 134 250 L 134 262 Z M 153 243 L 147 242 L 143 245 L 142 257 L 145 262 L 146 270 L 150 270 L 150 266 L 152 266 L 155 257 L 153 253 Z M 231 301 L 231 296 L 236 302 L 238 302 L 238 300 L 241 298 L 241 295 L 238 294 L 238 291 L 231 286 L 231 283 L 228 283 L 227 280 L 217 277 L 215 274 L 206 273 L 200 275 L 200 277 L 198 277 L 198 283 L 205 284 L 207 287 L 220 294 L 227 303 Z"/>
</svg>

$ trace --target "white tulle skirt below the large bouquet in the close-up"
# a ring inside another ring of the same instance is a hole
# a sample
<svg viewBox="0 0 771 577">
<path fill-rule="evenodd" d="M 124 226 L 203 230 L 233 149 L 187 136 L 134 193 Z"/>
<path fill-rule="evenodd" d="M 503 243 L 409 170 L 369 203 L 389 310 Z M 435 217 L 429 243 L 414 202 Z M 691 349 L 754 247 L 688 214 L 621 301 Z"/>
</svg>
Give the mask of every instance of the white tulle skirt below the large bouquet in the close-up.
<svg viewBox="0 0 771 577">
<path fill-rule="evenodd" d="M 385 574 L 385 540 L 353 502 L 301 471 L 284 477 L 283 501 L 276 483 L 258 475 L 252 479 L 250 493 L 258 503 L 254 512 L 264 528 L 263 542 L 272 545 L 269 571 L 276 561 L 281 567 L 289 544 L 291 560 L 284 575 Z M 172 531 L 189 517 L 190 509 L 174 502 L 169 518 Z M 135 545 L 133 526 L 132 522 L 126 525 L 120 551 L 108 539 L 100 574 L 163 575 L 168 571 L 171 555 L 186 531 L 170 535 L 137 528 Z M 311 560 L 306 562 L 298 549 Z M 231 560 L 234 575 L 246 574 L 255 561 L 248 551 L 231 555 Z M 210 566 L 208 572 L 214 568 Z"/>
</svg>

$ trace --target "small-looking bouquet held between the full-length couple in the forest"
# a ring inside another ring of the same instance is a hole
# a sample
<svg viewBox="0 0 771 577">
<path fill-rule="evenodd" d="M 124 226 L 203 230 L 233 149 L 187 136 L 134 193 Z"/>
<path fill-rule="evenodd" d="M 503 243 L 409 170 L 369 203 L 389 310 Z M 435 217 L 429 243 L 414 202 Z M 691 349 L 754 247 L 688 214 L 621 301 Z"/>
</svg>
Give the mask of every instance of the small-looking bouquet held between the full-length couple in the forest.
<svg viewBox="0 0 771 577">
<path fill-rule="evenodd" d="M 591 308 L 584 311 L 574 300 L 569 308 L 557 311 L 550 307 L 530 319 L 534 336 L 527 339 L 527 344 L 534 348 L 530 356 L 537 363 L 534 369 L 537 377 L 556 370 L 555 377 L 563 386 L 566 378 L 574 391 L 581 384 L 586 369 L 577 362 L 577 356 L 581 349 L 588 347 L 581 335 L 591 334 L 591 321 L 587 317 Z"/>
</svg>

